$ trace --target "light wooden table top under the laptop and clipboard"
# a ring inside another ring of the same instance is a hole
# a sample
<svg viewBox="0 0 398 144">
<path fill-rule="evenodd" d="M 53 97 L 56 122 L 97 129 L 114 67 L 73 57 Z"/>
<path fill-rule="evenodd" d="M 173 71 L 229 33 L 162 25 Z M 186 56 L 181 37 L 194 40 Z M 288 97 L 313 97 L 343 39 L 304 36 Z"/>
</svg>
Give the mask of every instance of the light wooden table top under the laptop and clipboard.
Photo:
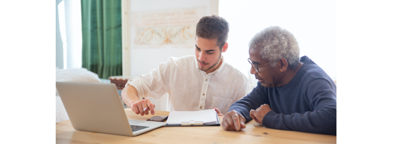
<svg viewBox="0 0 398 144">
<path fill-rule="evenodd" d="M 145 121 L 152 115 L 136 115 L 125 109 L 127 119 Z M 155 115 L 169 115 L 155 111 Z M 223 117 L 219 117 L 222 122 Z M 160 127 L 138 136 L 119 136 L 75 130 L 69 120 L 55 123 L 55 143 L 130 144 L 311 144 L 337 143 L 337 136 L 276 130 L 250 121 L 242 131 L 225 131 L 222 126 Z"/>
</svg>

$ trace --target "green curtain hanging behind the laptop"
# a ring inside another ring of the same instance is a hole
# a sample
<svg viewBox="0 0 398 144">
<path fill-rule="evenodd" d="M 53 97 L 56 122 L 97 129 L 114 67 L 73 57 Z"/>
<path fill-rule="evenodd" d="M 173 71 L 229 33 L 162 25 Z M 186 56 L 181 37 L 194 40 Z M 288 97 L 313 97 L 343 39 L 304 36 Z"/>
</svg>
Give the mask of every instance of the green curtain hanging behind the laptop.
<svg viewBox="0 0 398 144">
<path fill-rule="evenodd" d="M 81 0 L 82 67 L 107 79 L 122 75 L 121 0 Z"/>
</svg>

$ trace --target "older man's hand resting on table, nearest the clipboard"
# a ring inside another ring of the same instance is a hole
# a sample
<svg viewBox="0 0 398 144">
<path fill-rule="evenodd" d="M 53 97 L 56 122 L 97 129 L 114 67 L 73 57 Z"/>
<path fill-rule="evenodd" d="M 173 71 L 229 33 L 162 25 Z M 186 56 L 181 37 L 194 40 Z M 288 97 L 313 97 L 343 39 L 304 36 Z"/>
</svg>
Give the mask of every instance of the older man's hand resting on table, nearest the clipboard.
<svg viewBox="0 0 398 144">
<path fill-rule="evenodd" d="M 246 119 L 238 112 L 233 110 L 225 114 L 221 125 L 224 130 L 239 131 L 242 130 L 242 128 L 246 128 L 245 123 Z"/>
</svg>

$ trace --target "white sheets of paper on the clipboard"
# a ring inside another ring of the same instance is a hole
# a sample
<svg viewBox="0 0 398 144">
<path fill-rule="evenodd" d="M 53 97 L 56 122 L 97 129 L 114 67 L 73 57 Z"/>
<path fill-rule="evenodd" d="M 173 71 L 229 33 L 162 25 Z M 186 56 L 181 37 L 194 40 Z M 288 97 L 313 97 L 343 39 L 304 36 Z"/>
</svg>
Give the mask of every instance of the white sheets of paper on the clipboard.
<svg viewBox="0 0 398 144">
<path fill-rule="evenodd" d="M 167 125 L 213 125 L 219 123 L 214 109 L 203 111 L 170 111 Z"/>
</svg>

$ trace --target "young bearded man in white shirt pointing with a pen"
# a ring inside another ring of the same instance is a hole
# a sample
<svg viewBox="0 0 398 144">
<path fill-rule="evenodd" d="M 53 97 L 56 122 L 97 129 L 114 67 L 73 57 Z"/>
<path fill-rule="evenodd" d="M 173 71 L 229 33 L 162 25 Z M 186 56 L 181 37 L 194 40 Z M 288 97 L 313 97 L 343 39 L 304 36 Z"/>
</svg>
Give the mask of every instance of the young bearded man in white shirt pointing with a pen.
<svg viewBox="0 0 398 144">
<path fill-rule="evenodd" d="M 218 108 L 219 115 L 225 114 L 250 92 L 246 76 L 222 58 L 228 49 L 228 25 L 216 15 L 201 18 L 196 25 L 195 56 L 170 57 L 149 74 L 130 79 L 121 94 L 126 105 L 136 114 L 151 111 L 154 115 L 151 101 L 140 98 L 158 99 L 168 92 L 167 111 Z"/>
</svg>

